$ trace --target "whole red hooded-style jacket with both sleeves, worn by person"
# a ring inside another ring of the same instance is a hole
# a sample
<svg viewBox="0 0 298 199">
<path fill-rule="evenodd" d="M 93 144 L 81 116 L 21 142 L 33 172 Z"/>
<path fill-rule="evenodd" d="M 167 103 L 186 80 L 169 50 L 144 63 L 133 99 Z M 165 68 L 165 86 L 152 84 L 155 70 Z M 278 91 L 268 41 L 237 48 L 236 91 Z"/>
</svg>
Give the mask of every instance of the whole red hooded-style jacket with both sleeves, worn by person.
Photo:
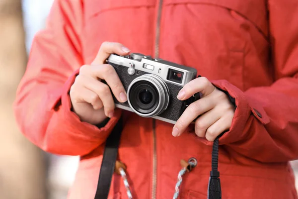
<svg viewBox="0 0 298 199">
<path fill-rule="evenodd" d="M 220 138 L 223 199 L 297 199 L 288 163 L 298 158 L 297 0 L 56 0 L 35 36 L 14 111 L 34 144 L 81 156 L 70 199 L 94 198 L 104 142 L 121 114 L 99 129 L 71 111 L 77 69 L 103 41 L 192 66 L 235 98 L 232 126 Z M 205 199 L 212 143 L 152 123 L 131 114 L 122 133 L 119 159 L 134 198 L 172 198 L 180 159 L 195 157 L 180 196 Z M 118 175 L 110 197 L 127 198 Z"/>
</svg>

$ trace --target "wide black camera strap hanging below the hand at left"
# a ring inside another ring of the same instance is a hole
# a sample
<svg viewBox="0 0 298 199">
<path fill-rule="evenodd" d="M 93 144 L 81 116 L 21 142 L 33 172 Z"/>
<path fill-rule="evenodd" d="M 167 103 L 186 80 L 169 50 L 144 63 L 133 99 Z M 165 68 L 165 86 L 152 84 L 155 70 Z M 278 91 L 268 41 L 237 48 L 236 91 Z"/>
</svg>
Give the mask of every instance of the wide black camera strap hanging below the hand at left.
<svg viewBox="0 0 298 199">
<path fill-rule="evenodd" d="M 108 198 L 118 156 L 118 148 L 123 128 L 122 125 L 122 117 L 120 117 L 114 129 L 106 140 L 94 199 Z"/>
</svg>

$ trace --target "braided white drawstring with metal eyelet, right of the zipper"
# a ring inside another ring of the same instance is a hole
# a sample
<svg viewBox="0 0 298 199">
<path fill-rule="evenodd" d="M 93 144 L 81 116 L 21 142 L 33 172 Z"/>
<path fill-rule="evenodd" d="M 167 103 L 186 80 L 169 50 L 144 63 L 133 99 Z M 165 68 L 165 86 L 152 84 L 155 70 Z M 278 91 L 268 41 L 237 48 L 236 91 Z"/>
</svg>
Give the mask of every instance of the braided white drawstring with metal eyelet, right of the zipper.
<svg viewBox="0 0 298 199">
<path fill-rule="evenodd" d="M 187 162 L 185 160 L 180 161 L 182 169 L 178 173 L 177 183 L 176 183 L 176 186 L 175 186 L 175 194 L 173 196 L 173 199 L 178 199 L 178 197 L 179 197 L 180 185 L 182 183 L 182 176 L 186 172 L 190 172 L 192 168 L 197 166 L 197 163 L 198 162 L 195 158 L 190 158 Z"/>
</svg>

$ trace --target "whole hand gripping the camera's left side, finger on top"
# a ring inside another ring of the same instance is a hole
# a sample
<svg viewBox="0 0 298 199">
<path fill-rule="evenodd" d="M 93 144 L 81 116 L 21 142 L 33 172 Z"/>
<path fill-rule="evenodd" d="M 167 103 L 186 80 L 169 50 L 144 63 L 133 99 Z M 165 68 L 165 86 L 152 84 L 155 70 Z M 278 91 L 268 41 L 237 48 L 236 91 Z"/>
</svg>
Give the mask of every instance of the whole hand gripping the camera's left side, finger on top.
<svg viewBox="0 0 298 199">
<path fill-rule="evenodd" d="M 101 123 L 114 114 L 115 104 L 110 91 L 120 102 L 127 101 L 126 91 L 115 71 L 105 64 L 110 54 L 127 55 L 130 50 L 120 43 L 104 42 L 91 65 L 83 65 L 70 90 L 73 111 L 81 121 Z M 108 84 L 104 84 L 105 80 Z"/>
</svg>

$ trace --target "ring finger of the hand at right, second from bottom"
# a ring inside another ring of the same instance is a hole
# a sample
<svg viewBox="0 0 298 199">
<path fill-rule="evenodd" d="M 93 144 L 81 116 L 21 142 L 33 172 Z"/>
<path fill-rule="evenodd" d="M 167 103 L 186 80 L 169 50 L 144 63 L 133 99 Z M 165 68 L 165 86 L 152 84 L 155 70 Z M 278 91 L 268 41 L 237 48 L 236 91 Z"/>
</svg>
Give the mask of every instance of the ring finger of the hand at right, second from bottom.
<svg viewBox="0 0 298 199">
<path fill-rule="evenodd" d="M 223 116 L 223 111 L 217 106 L 203 115 L 195 122 L 195 133 L 199 137 L 205 137 L 207 129 Z"/>
</svg>

